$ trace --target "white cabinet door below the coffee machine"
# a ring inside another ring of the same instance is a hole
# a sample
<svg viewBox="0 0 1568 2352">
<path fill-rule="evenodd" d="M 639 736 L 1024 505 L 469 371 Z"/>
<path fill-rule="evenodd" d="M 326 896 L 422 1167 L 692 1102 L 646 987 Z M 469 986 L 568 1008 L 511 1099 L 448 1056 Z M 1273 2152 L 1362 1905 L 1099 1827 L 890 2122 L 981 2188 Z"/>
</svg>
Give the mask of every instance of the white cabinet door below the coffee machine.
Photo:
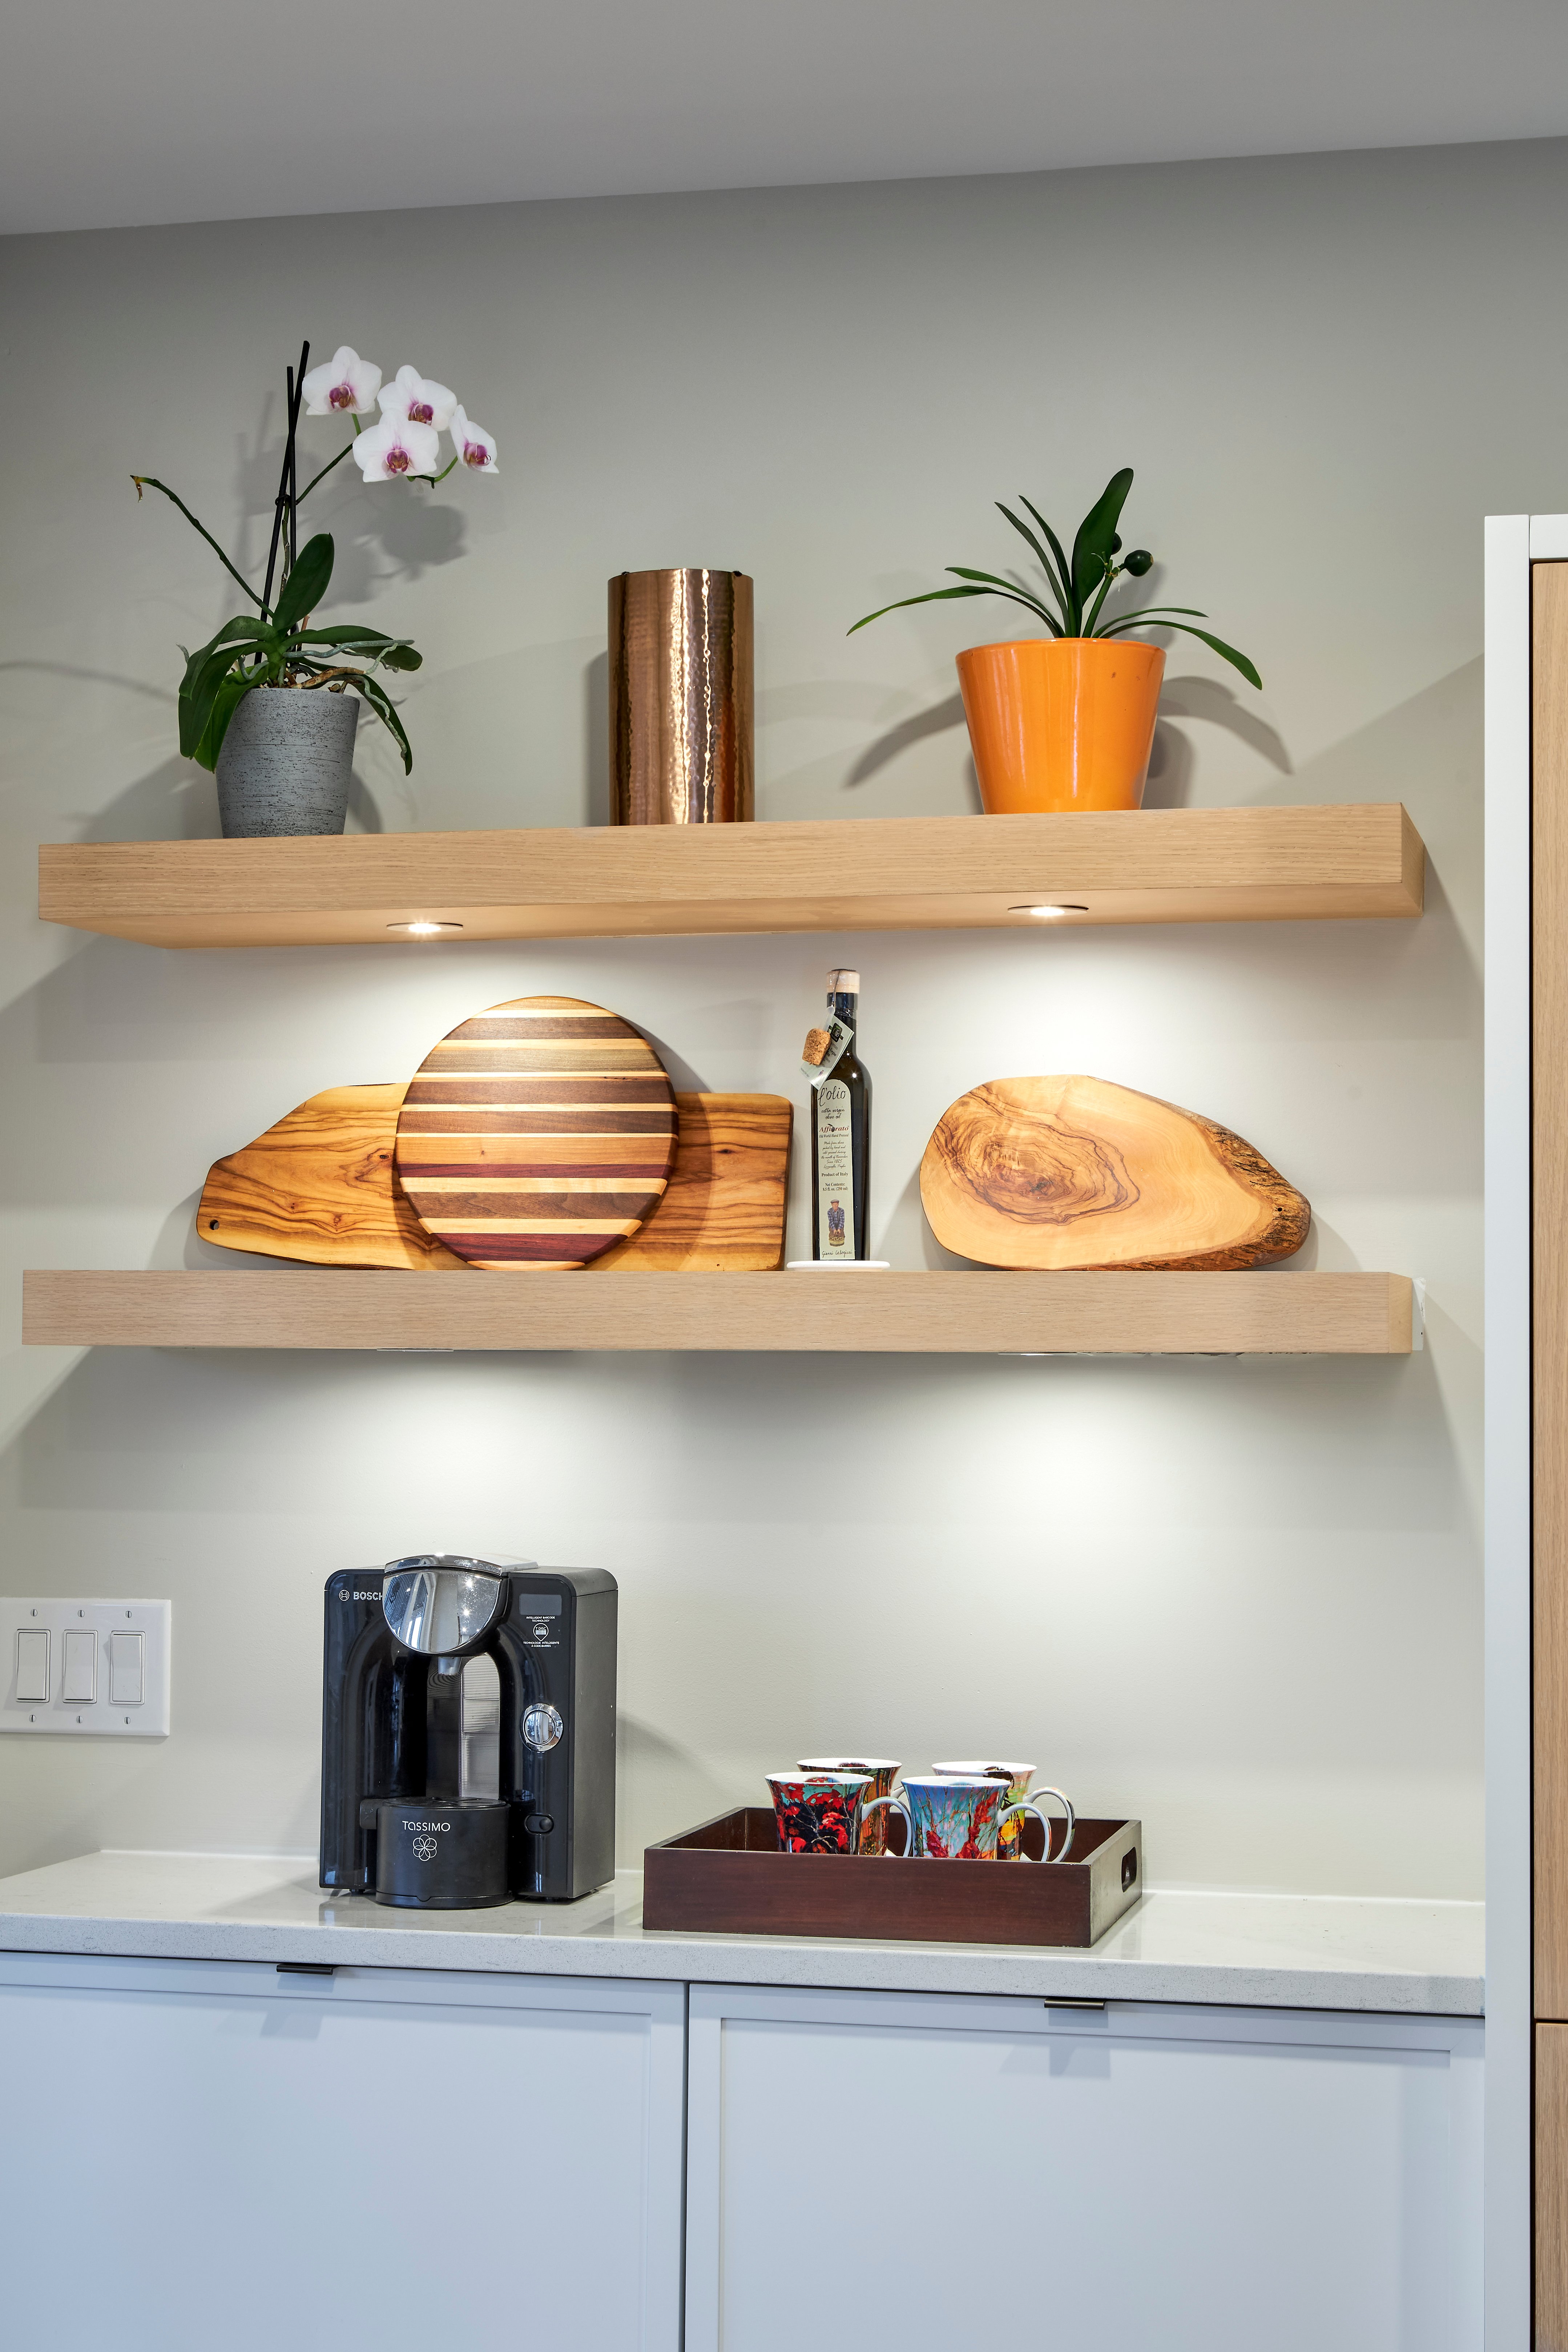
<svg viewBox="0 0 1568 2352">
<path fill-rule="evenodd" d="M 0 1957 L 0 2343 L 677 2352 L 684 1987 Z"/>
</svg>

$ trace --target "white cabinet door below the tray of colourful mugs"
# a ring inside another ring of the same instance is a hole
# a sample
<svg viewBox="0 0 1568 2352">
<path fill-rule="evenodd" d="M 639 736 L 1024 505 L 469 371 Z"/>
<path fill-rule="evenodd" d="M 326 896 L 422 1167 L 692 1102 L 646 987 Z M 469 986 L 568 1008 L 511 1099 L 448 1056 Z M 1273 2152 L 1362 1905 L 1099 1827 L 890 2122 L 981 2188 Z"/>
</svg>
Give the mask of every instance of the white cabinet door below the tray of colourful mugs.
<svg viewBox="0 0 1568 2352">
<path fill-rule="evenodd" d="M 1481 2025 L 691 1987 L 686 2352 L 1479 2352 Z"/>
</svg>

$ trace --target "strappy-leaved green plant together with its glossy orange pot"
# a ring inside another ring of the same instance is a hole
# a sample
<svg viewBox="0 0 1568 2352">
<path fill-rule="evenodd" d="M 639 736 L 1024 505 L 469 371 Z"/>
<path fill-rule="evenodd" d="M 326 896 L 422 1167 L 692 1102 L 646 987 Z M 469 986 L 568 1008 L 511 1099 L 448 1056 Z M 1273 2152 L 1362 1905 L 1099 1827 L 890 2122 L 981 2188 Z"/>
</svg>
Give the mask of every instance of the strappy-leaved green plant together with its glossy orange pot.
<svg viewBox="0 0 1568 2352">
<path fill-rule="evenodd" d="M 1051 602 L 1020 579 L 947 564 L 961 588 L 929 588 L 867 612 L 849 630 L 879 621 L 905 604 L 940 604 L 950 597 L 999 595 L 1023 604 L 1046 626 L 1044 637 L 976 644 L 959 654 L 964 717 L 987 816 L 1025 809 L 1135 809 L 1150 771 L 1159 684 L 1166 668 L 1161 647 L 1131 633 L 1175 628 L 1201 637 L 1215 654 L 1260 687 L 1258 670 L 1234 644 L 1194 628 L 1206 614 L 1197 604 L 1112 604 L 1119 579 L 1143 579 L 1154 557 L 1147 548 L 1121 555 L 1121 508 L 1133 487 L 1133 468 L 1114 473 L 1084 515 L 1072 541 L 1072 560 L 1060 539 L 1027 499 L 1039 524 L 997 501 L 1046 574 Z M 1056 609 L 1053 609 L 1056 607 Z"/>
</svg>

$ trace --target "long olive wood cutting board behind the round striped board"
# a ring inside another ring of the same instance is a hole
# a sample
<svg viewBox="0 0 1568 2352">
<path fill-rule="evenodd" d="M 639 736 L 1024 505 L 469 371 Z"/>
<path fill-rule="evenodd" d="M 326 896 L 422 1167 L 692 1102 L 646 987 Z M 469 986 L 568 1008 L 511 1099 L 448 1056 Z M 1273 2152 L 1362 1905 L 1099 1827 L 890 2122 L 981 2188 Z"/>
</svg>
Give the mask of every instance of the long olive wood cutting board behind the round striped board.
<svg viewBox="0 0 1568 2352">
<path fill-rule="evenodd" d="M 197 1230 L 219 1249 L 308 1265 L 458 1270 L 409 1207 L 395 1167 L 407 1082 L 329 1087 L 216 1160 Z M 790 1101 L 677 1094 L 675 1169 L 646 1225 L 590 1272 L 769 1272 L 783 1263 Z"/>
</svg>

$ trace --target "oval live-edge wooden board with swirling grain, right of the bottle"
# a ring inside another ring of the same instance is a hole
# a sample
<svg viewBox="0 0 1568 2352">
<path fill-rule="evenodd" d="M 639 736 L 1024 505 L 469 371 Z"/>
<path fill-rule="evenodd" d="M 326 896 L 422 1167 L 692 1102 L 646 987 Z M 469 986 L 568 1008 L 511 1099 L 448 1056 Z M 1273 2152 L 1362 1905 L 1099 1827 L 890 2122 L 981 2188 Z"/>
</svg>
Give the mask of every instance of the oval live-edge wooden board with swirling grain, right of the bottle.
<svg viewBox="0 0 1568 2352">
<path fill-rule="evenodd" d="M 1051 1272 L 1267 1265 L 1312 1223 L 1241 1136 L 1100 1077 L 997 1077 L 959 1096 L 919 1197 L 954 1256 Z"/>
</svg>

